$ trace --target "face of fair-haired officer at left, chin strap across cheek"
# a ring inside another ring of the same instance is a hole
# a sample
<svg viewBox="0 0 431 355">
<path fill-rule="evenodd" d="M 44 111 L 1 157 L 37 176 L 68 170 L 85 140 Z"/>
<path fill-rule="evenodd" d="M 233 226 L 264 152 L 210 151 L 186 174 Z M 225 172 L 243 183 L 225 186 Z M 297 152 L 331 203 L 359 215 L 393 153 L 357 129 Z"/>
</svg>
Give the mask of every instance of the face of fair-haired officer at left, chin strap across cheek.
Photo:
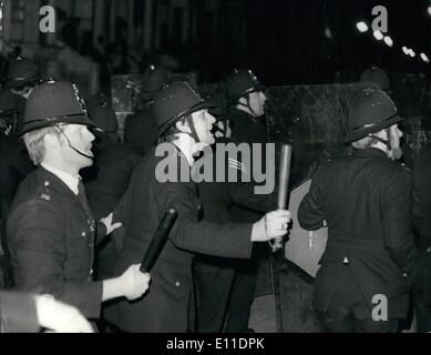
<svg viewBox="0 0 431 355">
<path fill-rule="evenodd" d="M 78 169 L 90 166 L 93 163 L 91 158 L 94 156 L 91 151 L 93 146 L 92 142 L 94 141 L 93 133 L 91 133 L 86 128 L 86 125 L 83 124 L 66 124 L 64 125 L 63 132 L 68 136 L 70 144 L 75 150 L 90 156 L 86 158 L 83 156 L 82 154 L 79 154 L 71 146 L 69 146 L 68 141 L 64 140 L 63 146 L 66 153 L 65 155 L 68 161 L 71 164 L 73 164 L 73 166 L 76 166 Z"/>
</svg>

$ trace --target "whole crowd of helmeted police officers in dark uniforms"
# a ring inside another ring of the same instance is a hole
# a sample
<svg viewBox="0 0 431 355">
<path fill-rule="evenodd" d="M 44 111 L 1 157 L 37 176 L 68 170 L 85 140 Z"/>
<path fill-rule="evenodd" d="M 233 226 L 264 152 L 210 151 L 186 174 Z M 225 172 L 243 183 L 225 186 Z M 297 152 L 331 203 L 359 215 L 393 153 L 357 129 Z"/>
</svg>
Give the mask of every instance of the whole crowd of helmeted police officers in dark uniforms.
<svg viewBox="0 0 431 355">
<path fill-rule="evenodd" d="M 349 108 L 352 153 L 312 174 L 298 221 L 328 227 L 312 306 L 328 332 L 398 332 L 413 307 L 431 331 L 431 148 L 400 163 L 403 120 L 386 73 Z M 226 159 L 226 179 L 163 180 L 164 159 L 191 176 L 216 143 L 269 142 L 265 87 L 234 70 L 224 100 L 143 73 L 140 109 L 120 138 L 110 94 L 40 81 L 14 59 L 0 89 L 1 331 L 247 333 L 261 254 L 290 222 L 258 182 L 230 181 L 259 161 Z M 160 156 L 164 144 L 168 154 Z M 294 146 L 295 149 L 295 146 Z M 212 160 L 215 162 L 216 160 Z M 217 161 L 219 163 L 219 161 Z M 220 166 L 214 166 L 214 174 Z M 166 211 L 177 219 L 151 273 L 141 262 Z M 264 252 L 263 252 L 264 251 Z M 376 295 L 387 308 L 376 317 Z"/>
</svg>

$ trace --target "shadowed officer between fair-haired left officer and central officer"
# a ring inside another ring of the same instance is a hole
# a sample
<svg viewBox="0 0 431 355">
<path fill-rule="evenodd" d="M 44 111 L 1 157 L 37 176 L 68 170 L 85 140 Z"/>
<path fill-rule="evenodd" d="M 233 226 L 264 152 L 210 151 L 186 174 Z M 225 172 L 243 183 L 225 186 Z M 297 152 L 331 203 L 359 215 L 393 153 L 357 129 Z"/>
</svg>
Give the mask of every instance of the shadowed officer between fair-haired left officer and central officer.
<svg viewBox="0 0 431 355">
<path fill-rule="evenodd" d="M 81 171 L 90 205 L 99 220 L 115 209 L 141 156 L 120 142 L 115 112 L 106 94 L 89 98 L 86 110 L 90 119 L 103 130 L 93 130 L 94 164 Z M 107 237 L 96 248 L 98 280 L 111 277 L 115 262 L 115 245 Z"/>
</svg>

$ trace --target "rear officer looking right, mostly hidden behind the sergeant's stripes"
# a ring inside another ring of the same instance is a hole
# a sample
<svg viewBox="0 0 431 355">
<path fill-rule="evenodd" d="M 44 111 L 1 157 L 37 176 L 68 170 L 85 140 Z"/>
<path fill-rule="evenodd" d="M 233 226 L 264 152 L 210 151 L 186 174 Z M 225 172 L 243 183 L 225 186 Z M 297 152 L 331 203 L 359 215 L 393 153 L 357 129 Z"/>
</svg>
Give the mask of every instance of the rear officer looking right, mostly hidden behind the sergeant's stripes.
<svg viewBox="0 0 431 355">
<path fill-rule="evenodd" d="M 234 70 L 226 79 L 226 99 L 229 105 L 228 114 L 232 123 L 232 135 L 236 143 L 260 143 L 261 156 L 266 156 L 265 143 L 268 142 L 265 102 L 267 100 L 264 91 L 265 85 L 260 83 L 252 70 Z M 261 166 L 265 166 L 265 160 Z M 253 169 L 253 162 L 252 166 Z M 233 204 L 230 213 L 235 222 L 256 222 L 261 217 L 250 209 Z M 256 245 L 257 246 L 257 245 Z M 248 318 L 255 295 L 255 285 L 259 262 L 268 253 L 266 245 L 254 247 L 253 257 L 247 261 L 236 262 L 236 276 L 230 294 L 227 312 L 226 332 L 245 333 L 248 328 Z"/>
</svg>

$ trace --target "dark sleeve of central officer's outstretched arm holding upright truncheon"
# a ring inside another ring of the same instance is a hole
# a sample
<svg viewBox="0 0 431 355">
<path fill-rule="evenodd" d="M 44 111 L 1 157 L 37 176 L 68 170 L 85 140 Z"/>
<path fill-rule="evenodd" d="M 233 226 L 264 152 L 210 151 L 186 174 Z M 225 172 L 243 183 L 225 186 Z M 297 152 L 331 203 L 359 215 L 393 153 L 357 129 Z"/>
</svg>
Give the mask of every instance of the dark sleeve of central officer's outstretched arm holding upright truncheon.
<svg viewBox="0 0 431 355">
<path fill-rule="evenodd" d="M 177 220 L 170 233 L 178 248 L 214 256 L 248 258 L 252 254 L 252 224 L 198 222 L 193 199 L 194 183 L 157 183 L 157 213 L 174 207 Z"/>
</svg>

